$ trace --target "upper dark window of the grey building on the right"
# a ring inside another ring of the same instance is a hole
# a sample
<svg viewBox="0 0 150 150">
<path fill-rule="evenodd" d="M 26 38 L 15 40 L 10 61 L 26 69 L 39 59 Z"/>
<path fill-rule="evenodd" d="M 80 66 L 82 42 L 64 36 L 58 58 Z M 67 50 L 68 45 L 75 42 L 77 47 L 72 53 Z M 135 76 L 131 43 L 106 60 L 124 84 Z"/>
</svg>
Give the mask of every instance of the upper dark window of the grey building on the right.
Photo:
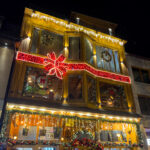
<svg viewBox="0 0 150 150">
<path fill-rule="evenodd" d="M 132 68 L 134 80 L 137 82 L 150 83 L 150 75 L 148 70 Z"/>
</svg>

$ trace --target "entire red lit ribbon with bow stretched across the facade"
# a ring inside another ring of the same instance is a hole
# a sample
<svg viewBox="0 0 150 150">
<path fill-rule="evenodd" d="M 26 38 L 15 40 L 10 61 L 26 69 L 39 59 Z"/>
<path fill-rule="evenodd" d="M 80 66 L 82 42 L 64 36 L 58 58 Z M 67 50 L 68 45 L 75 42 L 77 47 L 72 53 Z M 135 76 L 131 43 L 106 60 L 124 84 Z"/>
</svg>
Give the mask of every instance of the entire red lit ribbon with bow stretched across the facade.
<svg viewBox="0 0 150 150">
<path fill-rule="evenodd" d="M 59 79 L 63 79 L 63 76 L 65 75 L 67 70 L 83 70 L 97 77 L 125 82 L 129 84 L 131 83 L 129 76 L 102 71 L 88 65 L 87 63 L 64 63 L 66 58 L 62 54 L 58 58 L 56 58 L 54 52 L 47 54 L 47 57 L 40 57 L 18 51 L 16 59 L 43 65 L 45 66 L 45 70 L 48 72 L 48 75 L 56 75 Z"/>
</svg>

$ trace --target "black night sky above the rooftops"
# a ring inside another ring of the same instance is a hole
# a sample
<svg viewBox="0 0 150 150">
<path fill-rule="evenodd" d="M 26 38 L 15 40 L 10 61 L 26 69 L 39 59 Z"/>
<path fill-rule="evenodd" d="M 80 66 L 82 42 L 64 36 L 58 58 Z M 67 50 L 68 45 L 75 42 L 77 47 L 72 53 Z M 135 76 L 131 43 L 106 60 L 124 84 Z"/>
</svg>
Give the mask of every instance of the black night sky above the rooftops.
<svg viewBox="0 0 150 150">
<path fill-rule="evenodd" d="M 24 7 L 66 18 L 71 11 L 76 11 L 117 23 L 118 36 L 128 41 L 126 51 L 150 57 L 150 8 L 144 0 L 3 0 L 3 5 L 0 5 L 0 16 L 21 26 Z"/>
</svg>

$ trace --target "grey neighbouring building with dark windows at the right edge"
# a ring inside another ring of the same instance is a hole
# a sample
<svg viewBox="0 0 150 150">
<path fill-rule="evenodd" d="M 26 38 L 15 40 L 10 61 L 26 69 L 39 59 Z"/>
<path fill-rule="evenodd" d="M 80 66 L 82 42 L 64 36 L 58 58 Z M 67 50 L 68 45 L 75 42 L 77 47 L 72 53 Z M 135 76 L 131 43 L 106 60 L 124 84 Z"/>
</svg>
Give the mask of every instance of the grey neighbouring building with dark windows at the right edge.
<svg viewBox="0 0 150 150">
<path fill-rule="evenodd" d="M 133 54 L 127 54 L 126 58 L 132 80 L 136 112 L 142 115 L 147 144 L 150 149 L 150 60 Z"/>
</svg>

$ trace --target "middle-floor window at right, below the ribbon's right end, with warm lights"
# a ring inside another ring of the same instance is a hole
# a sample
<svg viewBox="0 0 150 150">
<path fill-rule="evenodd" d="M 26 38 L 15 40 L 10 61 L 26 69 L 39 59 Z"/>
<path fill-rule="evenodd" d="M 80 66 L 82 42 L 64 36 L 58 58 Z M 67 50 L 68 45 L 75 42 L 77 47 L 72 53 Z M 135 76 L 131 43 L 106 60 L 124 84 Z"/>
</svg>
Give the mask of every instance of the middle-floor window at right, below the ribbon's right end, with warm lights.
<svg viewBox="0 0 150 150">
<path fill-rule="evenodd" d="M 99 83 L 102 106 L 127 109 L 124 87 L 108 83 Z"/>
</svg>

